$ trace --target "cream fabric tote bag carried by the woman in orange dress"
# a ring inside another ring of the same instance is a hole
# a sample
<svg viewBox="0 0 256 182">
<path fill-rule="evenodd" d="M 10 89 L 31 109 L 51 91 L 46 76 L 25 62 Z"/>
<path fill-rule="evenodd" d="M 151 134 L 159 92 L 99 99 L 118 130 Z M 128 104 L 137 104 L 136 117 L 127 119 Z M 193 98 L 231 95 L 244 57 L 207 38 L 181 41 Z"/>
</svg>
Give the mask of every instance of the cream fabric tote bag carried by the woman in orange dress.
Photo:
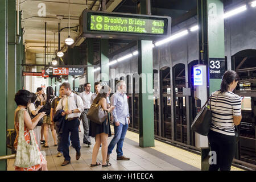
<svg viewBox="0 0 256 182">
<path fill-rule="evenodd" d="M 35 136 L 32 130 L 30 133 L 30 143 L 26 142 L 24 136 L 24 109 L 20 110 L 18 113 L 19 119 L 19 137 L 16 150 L 16 158 L 14 166 L 21 168 L 30 168 L 32 166 L 41 163 L 40 151 L 38 150 L 38 145 L 36 144 Z"/>
</svg>

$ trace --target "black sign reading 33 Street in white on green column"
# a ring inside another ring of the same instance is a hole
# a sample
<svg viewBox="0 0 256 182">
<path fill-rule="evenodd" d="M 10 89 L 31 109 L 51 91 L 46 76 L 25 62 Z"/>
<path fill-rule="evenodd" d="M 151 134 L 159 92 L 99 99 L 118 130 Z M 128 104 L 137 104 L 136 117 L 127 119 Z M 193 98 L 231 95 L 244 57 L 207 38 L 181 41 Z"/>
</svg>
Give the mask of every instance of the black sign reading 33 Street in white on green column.
<svg viewBox="0 0 256 182">
<path fill-rule="evenodd" d="M 209 58 L 210 78 L 222 78 L 225 73 L 225 58 Z"/>
</svg>

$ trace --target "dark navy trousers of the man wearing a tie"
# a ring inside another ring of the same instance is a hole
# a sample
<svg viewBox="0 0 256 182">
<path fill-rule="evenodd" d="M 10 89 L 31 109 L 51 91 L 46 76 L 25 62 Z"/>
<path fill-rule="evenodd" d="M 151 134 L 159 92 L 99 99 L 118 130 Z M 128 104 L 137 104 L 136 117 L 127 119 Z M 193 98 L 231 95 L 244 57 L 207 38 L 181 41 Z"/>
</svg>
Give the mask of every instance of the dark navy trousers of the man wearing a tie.
<svg viewBox="0 0 256 182">
<path fill-rule="evenodd" d="M 64 130 L 62 134 L 61 143 L 63 146 L 63 156 L 65 160 L 71 160 L 69 156 L 69 133 L 72 142 L 72 147 L 76 149 L 76 152 L 80 153 L 80 141 L 79 141 L 79 119 L 73 119 L 72 121 L 65 120 Z"/>
</svg>

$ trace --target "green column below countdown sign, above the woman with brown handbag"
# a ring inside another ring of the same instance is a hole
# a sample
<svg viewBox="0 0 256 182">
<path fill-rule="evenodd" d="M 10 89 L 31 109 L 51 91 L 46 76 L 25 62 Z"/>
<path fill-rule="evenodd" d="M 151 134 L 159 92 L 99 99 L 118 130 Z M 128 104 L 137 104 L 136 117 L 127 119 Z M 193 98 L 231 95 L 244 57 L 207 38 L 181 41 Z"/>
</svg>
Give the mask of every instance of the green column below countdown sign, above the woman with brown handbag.
<svg viewBox="0 0 256 182">
<path fill-rule="evenodd" d="M 109 40 L 101 39 L 101 54 L 100 54 L 100 66 L 101 66 L 101 81 L 109 81 Z"/>
</svg>

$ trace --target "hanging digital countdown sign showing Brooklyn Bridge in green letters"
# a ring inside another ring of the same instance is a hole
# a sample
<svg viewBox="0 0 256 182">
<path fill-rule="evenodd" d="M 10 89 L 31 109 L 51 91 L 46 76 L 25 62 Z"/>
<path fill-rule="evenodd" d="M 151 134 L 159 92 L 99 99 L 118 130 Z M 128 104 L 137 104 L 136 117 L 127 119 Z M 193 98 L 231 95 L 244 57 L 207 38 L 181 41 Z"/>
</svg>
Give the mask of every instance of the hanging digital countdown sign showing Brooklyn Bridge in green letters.
<svg viewBox="0 0 256 182">
<path fill-rule="evenodd" d="M 84 10 L 80 35 L 91 38 L 154 40 L 171 34 L 169 16 L 106 13 Z"/>
</svg>

